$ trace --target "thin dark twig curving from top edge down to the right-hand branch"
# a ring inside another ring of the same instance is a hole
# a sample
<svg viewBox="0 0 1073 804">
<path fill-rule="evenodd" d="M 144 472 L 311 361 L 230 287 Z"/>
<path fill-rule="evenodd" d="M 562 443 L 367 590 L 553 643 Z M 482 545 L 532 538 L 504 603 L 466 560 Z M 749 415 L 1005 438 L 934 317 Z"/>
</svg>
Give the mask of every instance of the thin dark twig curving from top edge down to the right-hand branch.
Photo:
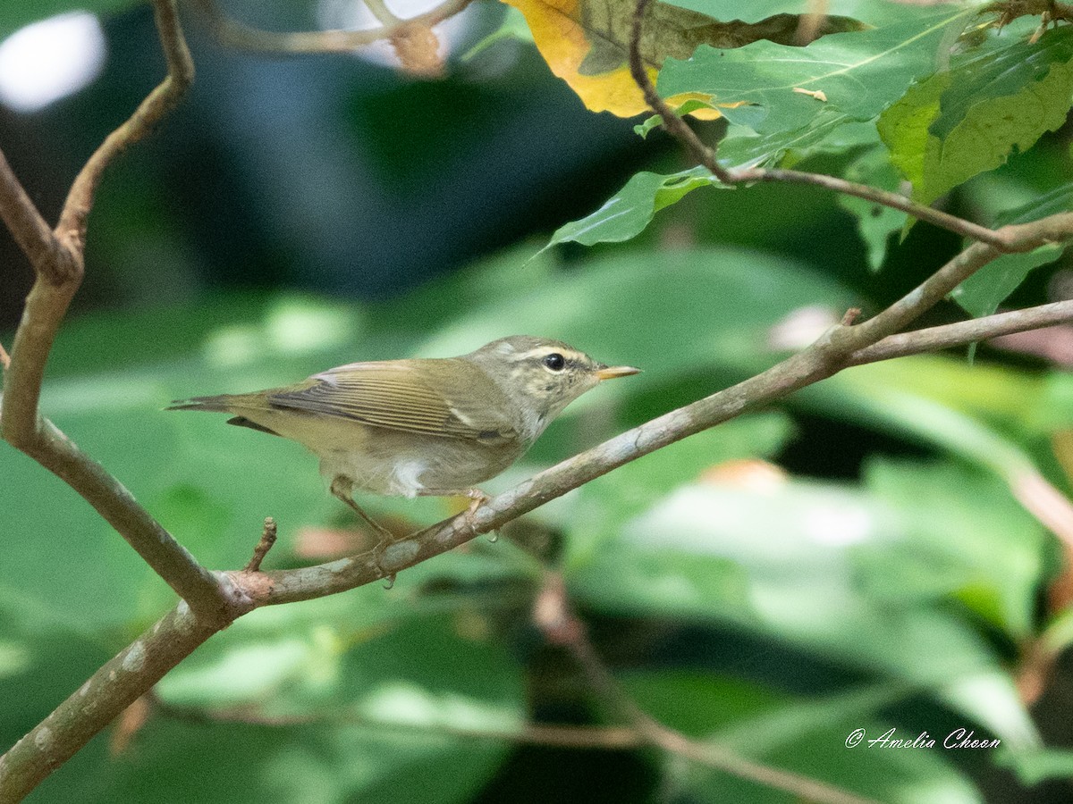
<svg viewBox="0 0 1073 804">
<path fill-rule="evenodd" d="M 777 168 L 747 167 L 729 170 L 719 164 L 716 151 L 701 142 L 686 121 L 656 91 L 652 80 L 645 69 L 641 56 L 641 39 L 645 15 L 652 0 L 637 0 L 633 13 L 633 27 L 630 32 L 630 75 L 641 88 L 645 102 L 663 121 L 663 128 L 677 139 L 699 165 L 704 165 L 719 181 L 724 184 L 741 184 L 754 181 L 790 182 L 822 187 L 836 193 L 844 193 L 865 200 L 874 202 L 885 207 L 901 210 L 922 221 L 954 232 L 982 243 L 988 243 L 997 249 L 1006 250 L 1002 236 L 986 226 L 966 221 L 949 212 L 918 204 L 898 193 L 891 193 L 867 184 L 857 184 L 835 176 L 804 173 L 802 170 L 784 170 Z"/>
</svg>

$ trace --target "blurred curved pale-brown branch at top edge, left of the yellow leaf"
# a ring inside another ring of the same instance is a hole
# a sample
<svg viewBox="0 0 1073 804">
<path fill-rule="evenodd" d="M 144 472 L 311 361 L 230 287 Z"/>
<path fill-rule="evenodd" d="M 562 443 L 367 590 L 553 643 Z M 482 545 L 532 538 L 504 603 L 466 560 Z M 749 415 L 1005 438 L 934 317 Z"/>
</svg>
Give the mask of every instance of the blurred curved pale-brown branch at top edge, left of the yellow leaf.
<svg viewBox="0 0 1073 804">
<path fill-rule="evenodd" d="M 216 0 L 193 0 L 216 40 L 240 50 L 278 54 L 349 53 L 362 45 L 399 36 L 412 27 L 431 27 L 461 12 L 472 0 L 446 0 L 410 19 L 362 31 L 279 32 L 253 28 L 226 16 Z M 369 9 L 377 14 L 376 9 Z M 381 20 L 383 21 L 383 20 Z"/>
</svg>

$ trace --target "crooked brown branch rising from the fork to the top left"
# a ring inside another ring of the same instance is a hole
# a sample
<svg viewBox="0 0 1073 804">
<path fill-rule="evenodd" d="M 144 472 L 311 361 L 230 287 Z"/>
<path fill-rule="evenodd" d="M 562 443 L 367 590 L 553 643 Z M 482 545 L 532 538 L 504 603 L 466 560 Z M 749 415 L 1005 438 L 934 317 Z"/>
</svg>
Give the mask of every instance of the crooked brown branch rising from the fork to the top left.
<svg viewBox="0 0 1073 804">
<path fill-rule="evenodd" d="M 82 279 L 86 218 L 100 177 L 117 154 L 175 106 L 193 74 L 174 0 L 156 0 L 155 8 L 171 72 L 78 174 L 55 235 L 45 237 L 43 221 L 6 161 L 0 162 L 0 215 L 16 227 L 20 243 L 30 241 L 31 262 L 53 259 L 48 265 L 34 262 L 36 280 L 15 333 L 11 366 L 4 372 L 0 434 L 85 497 L 194 611 L 211 622 L 230 622 L 229 609 L 247 606 L 241 595 L 236 597 L 234 587 L 221 586 L 118 480 L 39 414 L 45 363 Z"/>
</svg>

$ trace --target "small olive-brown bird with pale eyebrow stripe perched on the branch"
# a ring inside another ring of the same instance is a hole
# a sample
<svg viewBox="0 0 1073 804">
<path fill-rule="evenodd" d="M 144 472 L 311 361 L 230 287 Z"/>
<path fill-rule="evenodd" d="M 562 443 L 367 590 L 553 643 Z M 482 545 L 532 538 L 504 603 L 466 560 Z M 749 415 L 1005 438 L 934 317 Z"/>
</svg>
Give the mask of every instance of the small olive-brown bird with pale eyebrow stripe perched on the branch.
<svg viewBox="0 0 1073 804">
<path fill-rule="evenodd" d="M 234 414 L 229 425 L 291 438 L 321 460 L 332 493 L 488 497 L 476 485 L 520 458 L 562 410 L 601 381 L 636 374 L 561 341 L 501 338 L 459 357 L 357 362 L 295 385 L 194 397 L 170 411 Z"/>
</svg>

